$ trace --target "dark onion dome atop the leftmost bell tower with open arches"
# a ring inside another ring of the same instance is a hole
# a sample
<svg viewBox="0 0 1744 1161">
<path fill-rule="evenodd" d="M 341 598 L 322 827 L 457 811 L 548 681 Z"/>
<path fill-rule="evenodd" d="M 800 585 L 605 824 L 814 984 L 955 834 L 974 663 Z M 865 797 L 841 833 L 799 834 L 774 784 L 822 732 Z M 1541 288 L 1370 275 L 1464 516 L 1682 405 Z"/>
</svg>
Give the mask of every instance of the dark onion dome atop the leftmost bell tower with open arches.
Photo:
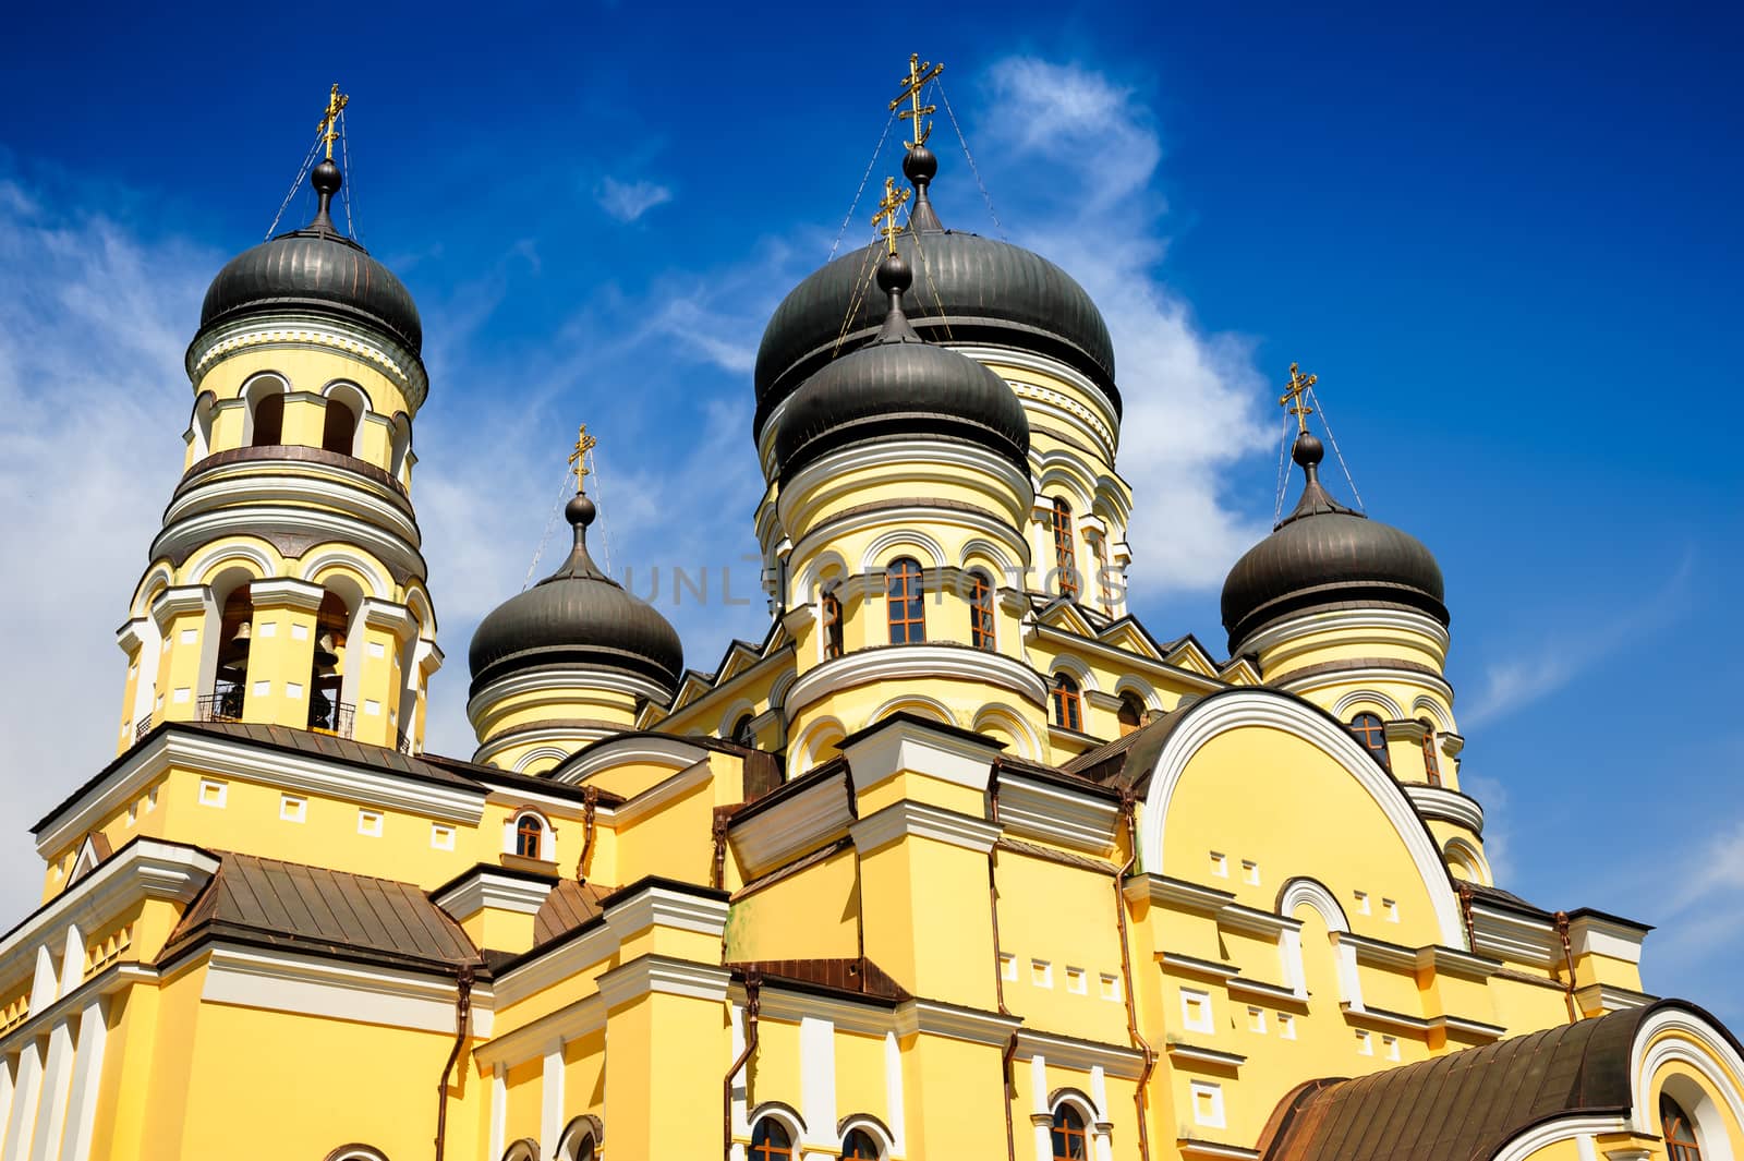
<svg viewBox="0 0 1744 1161">
<path fill-rule="evenodd" d="M 363 246 L 333 227 L 330 206 L 342 178 L 330 160 L 309 176 L 321 197 L 314 221 L 246 249 L 218 272 L 201 307 L 201 329 L 253 314 L 312 310 L 363 322 L 424 347 L 412 293 Z"/>
</svg>

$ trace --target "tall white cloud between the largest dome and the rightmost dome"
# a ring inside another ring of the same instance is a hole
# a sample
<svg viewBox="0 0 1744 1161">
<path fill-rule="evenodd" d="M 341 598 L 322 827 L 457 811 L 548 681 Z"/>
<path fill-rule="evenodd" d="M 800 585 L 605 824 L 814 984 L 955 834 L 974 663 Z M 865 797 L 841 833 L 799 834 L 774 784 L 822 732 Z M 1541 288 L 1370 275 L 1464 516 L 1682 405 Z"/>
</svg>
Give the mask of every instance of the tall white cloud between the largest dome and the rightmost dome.
<svg viewBox="0 0 1744 1161">
<path fill-rule="evenodd" d="M 1163 148 L 1149 110 L 1102 73 L 1034 58 L 994 64 L 989 87 L 980 157 L 1031 176 L 999 181 L 1029 199 L 1015 241 L 1081 282 L 1114 340 L 1135 589 L 1155 600 L 1216 587 L 1266 533 L 1224 502 L 1233 465 L 1270 446 L 1256 406 L 1266 380 L 1252 340 L 1205 333 L 1160 274 L 1168 239 L 1153 178 Z M 1046 194 L 1032 180 L 1038 162 L 1053 174 Z"/>
</svg>

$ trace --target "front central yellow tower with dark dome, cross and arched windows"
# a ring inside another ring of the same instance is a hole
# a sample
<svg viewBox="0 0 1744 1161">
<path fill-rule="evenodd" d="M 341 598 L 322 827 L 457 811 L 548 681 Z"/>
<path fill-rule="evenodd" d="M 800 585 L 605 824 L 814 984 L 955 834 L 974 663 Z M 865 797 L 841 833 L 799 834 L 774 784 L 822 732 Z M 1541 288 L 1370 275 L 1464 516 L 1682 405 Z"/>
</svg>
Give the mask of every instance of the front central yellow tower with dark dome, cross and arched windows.
<svg viewBox="0 0 1744 1161">
<path fill-rule="evenodd" d="M 975 359 L 928 343 L 903 310 L 886 183 L 877 336 L 825 364 L 773 432 L 797 678 L 790 771 L 896 711 L 1039 753 L 1046 690 L 1024 661 L 1013 577 L 1029 565 L 1029 424 Z"/>
</svg>

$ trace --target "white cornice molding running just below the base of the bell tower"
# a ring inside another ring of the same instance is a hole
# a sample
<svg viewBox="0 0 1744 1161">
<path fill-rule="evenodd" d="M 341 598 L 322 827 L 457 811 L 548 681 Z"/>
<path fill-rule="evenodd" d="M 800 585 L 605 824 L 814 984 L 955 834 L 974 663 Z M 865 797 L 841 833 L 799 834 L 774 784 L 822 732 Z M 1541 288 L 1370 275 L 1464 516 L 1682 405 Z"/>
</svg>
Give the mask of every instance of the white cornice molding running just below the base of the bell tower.
<svg viewBox="0 0 1744 1161">
<path fill-rule="evenodd" d="M 140 797 L 146 783 L 171 767 L 197 774 L 239 777 L 274 790 L 300 790 L 340 802 L 384 807 L 445 823 L 476 826 L 485 812 L 483 790 L 434 786 L 422 779 L 377 772 L 351 762 L 267 748 L 242 737 L 197 730 L 166 730 L 129 753 L 110 776 L 58 811 L 51 826 L 37 835 L 37 852 L 70 845 L 73 838 Z"/>
</svg>

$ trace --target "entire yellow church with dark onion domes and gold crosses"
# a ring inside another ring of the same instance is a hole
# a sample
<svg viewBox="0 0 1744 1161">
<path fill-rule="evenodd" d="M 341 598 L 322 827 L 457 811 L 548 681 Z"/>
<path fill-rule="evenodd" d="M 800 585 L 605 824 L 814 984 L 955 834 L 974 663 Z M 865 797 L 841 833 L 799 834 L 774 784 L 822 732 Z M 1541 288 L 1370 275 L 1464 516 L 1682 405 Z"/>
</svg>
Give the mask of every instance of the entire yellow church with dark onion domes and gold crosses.
<svg viewBox="0 0 1744 1161">
<path fill-rule="evenodd" d="M 1744 1058 L 1648 927 L 1493 880 L 1430 551 L 1320 483 L 1228 655 L 1127 610 L 1114 350 L 947 230 L 926 66 L 881 241 L 755 371 L 776 615 L 712 671 L 572 549 L 424 750 L 417 307 L 330 214 L 218 272 L 115 760 L 0 938 L 0 1161 L 1697 1161 Z M 439 392 L 433 406 L 441 406 Z"/>
</svg>

